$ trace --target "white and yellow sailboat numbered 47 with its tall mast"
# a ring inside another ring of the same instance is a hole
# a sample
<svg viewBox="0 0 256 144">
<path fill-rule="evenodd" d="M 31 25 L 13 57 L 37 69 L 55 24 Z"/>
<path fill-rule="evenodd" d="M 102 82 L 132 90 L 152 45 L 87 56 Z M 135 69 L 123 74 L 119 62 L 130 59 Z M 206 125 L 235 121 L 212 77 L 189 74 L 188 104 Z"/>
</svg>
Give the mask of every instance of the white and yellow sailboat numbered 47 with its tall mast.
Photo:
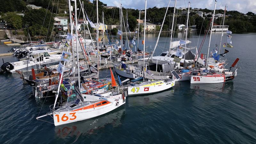
<svg viewBox="0 0 256 144">
<path fill-rule="evenodd" d="M 146 13 L 147 13 L 147 0 L 145 0 L 145 19 L 144 19 L 144 41 L 146 34 Z M 145 44 L 144 51 L 145 52 Z M 147 79 L 145 81 L 145 79 Z M 128 83 L 128 95 L 140 95 L 155 93 L 167 90 L 175 85 L 175 81 L 171 76 L 151 75 L 145 67 L 145 53 L 143 53 L 143 82 L 137 81 L 135 83 Z"/>
</svg>

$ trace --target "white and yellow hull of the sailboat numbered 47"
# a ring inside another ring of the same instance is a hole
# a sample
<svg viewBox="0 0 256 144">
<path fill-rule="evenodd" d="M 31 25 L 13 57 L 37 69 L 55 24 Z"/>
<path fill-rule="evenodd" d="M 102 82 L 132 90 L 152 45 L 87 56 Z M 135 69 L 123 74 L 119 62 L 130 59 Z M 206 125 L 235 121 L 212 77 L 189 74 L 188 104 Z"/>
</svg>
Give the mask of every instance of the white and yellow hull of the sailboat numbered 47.
<svg viewBox="0 0 256 144">
<path fill-rule="evenodd" d="M 141 95 L 167 90 L 175 85 L 175 81 L 164 82 L 164 80 L 154 82 L 144 82 L 138 86 L 128 86 L 128 95 Z"/>
</svg>

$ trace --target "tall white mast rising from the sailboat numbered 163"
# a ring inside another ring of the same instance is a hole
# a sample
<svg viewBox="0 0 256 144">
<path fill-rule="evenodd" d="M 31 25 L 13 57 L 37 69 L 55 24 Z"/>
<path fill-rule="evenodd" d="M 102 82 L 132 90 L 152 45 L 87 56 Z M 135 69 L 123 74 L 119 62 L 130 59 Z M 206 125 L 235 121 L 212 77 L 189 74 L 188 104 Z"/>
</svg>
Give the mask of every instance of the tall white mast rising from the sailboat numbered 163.
<svg viewBox="0 0 256 144">
<path fill-rule="evenodd" d="M 75 19 L 76 19 L 76 59 L 77 59 L 77 72 L 78 72 L 78 84 L 79 84 L 79 90 L 81 88 L 81 82 L 80 82 L 80 67 L 79 67 L 79 55 L 78 55 L 78 29 L 77 29 L 77 7 L 76 7 L 76 0 L 75 0 Z M 79 38 L 80 39 L 80 38 Z"/>
</svg>

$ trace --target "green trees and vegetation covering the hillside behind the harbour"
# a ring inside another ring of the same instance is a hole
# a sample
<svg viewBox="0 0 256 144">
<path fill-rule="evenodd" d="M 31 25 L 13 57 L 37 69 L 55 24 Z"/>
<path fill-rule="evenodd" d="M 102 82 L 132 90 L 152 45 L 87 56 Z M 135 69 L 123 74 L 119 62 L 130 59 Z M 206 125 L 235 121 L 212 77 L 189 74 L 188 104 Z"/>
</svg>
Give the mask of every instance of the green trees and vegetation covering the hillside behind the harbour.
<svg viewBox="0 0 256 144">
<path fill-rule="evenodd" d="M 96 22 L 96 1 L 94 0 L 92 3 L 90 0 L 81 0 L 84 2 L 85 12 L 92 22 Z M 59 2 L 59 3 L 58 3 Z M 24 29 L 24 34 L 28 33 L 31 36 L 41 35 L 46 36 L 50 35 L 52 29 L 54 31 L 58 31 L 57 28 L 53 28 L 53 23 L 55 17 L 55 13 L 57 12 L 57 16 L 69 16 L 68 13 L 64 14 L 64 11 L 68 12 L 67 0 L 0 0 L 0 15 L 1 20 L 6 21 L 8 23 L 9 28 L 14 29 Z M 57 4 L 58 3 L 58 4 Z M 73 2 L 72 2 L 73 3 Z M 27 8 L 26 5 L 34 4 L 36 6 L 41 6 L 42 9 L 30 9 Z M 119 20 L 119 8 L 104 8 L 107 4 L 104 4 L 98 1 L 99 4 L 99 20 L 102 22 L 102 12 L 104 12 L 104 22 L 107 25 L 120 25 Z M 72 4 L 73 5 L 73 4 Z M 78 8 L 80 8 L 80 3 L 77 3 Z M 46 10 L 48 9 L 48 10 Z M 173 15 L 173 7 L 169 8 L 167 11 L 167 16 L 164 21 L 163 30 L 169 30 L 171 28 L 172 23 L 172 15 Z M 192 10 L 192 8 L 191 8 Z M 78 10 L 79 13 L 80 10 Z M 137 27 L 137 20 L 139 19 L 139 10 L 134 9 L 122 9 L 124 14 L 124 21 L 126 22 L 126 12 L 128 13 L 128 24 L 130 31 L 134 31 Z M 142 10 L 144 11 L 144 10 Z M 148 8 L 147 9 L 147 22 L 153 23 L 156 25 L 161 25 L 164 14 L 166 11 L 166 7 L 164 8 Z M 199 9 L 201 12 L 213 12 L 213 10 L 209 9 Z M 51 13 L 52 12 L 52 13 Z M 224 10 L 216 10 L 217 13 L 224 13 Z M 16 13 L 24 13 L 25 16 L 21 17 Z M 186 15 L 182 15 L 182 10 L 177 10 L 178 15 L 176 15 L 176 23 L 175 29 L 177 30 L 177 24 L 185 24 Z M 46 14 L 46 17 L 45 17 Z M 45 17 L 45 20 L 44 20 Z M 80 13 L 80 17 L 82 18 L 82 12 Z M 141 12 L 141 19 L 144 19 L 144 13 Z M 214 23 L 217 25 L 221 25 L 223 17 L 220 17 L 214 20 Z M 207 17 L 200 17 L 196 15 L 196 12 L 191 11 L 189 16 L 189 25 L 196 25 L 198 30 L 201 30 L 202 33 L 206 30 L 211 20 L 211 15 Z M 253 12 L 248 12 L 245 14 L 238 11 L 226 11 L 225 25 L 229 25 L 229 30 L 233 33 L 244 33 L 244 32 L 256 32 L 256 15 Z M 83 27 L 82 27 L 83 29 Z M 92 28 L 90 28 L 93 31 Z M 142 25 L 140 25 L 140 31 L 142 30 Z M 160 30 L 160 26 L 156 26 L 156 31 Z M 112 34 L 117 34 L 117 29 L 113 29 L 111 31 Z"/>
</svg>

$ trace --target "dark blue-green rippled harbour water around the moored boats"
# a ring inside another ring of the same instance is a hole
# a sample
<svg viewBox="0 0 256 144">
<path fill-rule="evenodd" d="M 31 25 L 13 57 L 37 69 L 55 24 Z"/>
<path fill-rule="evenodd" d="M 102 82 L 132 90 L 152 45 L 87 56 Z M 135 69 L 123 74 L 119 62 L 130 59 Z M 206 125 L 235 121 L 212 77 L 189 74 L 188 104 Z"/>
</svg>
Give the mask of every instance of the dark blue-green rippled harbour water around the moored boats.
<svg viewBox="0 0 256 144">
<path fill-rule="evenodd" d="M 146 45 L 154 48 L 157 34 L 146 36 Z M 236 58 L 242 68 L 233 81 L 176 82 L 164 92 L 128 97 L 125 106 L 105 115 L 57 127 L 36 120 L 39 113 L 49 112 L 53 99 L 35 99 L 31 87 L 24 85 L 18 74 L 1 75 L 0 143 L 255 143 L 256 34 L 231 36 L 234 47 L 226 47 L 226 68 Z M 190 33 L 188 40 L 190 46 L 196 46 L 198 36 Z M 168 41 L 163 34 L 156 55 L 167 50 Z M 203 53 L 207 53 L 208 41 L 209 36 Z M 220 44 L 220 33 L 213 33 L 211 51 L 215 44 Z M 9 49 L 0 43 L 0 53 Z M 12 56 L 0 58 L 1 65 L 2 58 L 16 61 Z M 109 69 L 100 70 L 102 77 L 108 74 Z M 45 120 L 53 122 L 51 117 Z"/>
</svg>

